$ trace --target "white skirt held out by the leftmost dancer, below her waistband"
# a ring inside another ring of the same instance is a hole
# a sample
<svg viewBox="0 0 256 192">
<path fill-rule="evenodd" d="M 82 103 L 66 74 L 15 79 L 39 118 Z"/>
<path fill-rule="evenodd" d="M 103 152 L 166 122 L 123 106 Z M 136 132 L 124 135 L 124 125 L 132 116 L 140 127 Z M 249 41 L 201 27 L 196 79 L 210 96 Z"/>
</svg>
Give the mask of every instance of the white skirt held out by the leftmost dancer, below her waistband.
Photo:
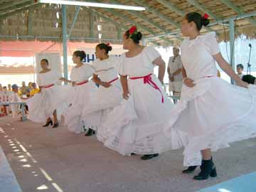
<svg viewBox="0 0 256 192">
<path fill-rule="evenodd" d="M 54 85 L 46 89 L 42 89 L 38 93 L 26 100 L 28 105 L 28 119 L 33 122 L 45 123 L 46 120 L 53 115 L 54 110 L 67 106 L 67 95 L 70 91 L 68 85 Z"/>
</svg>

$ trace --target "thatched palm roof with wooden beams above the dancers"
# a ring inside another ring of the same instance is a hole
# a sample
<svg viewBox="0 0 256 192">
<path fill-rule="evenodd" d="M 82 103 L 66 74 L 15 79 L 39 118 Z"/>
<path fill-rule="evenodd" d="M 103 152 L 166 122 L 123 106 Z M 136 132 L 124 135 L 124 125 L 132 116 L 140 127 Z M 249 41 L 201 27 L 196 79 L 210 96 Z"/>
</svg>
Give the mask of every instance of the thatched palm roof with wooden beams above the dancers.
<svg viewBox="0 0 256 192">
<path fill-rule="evenodd" d="M 82 7 L 75 23 L 70 41 L 99 41 L 120 43 L 122 33 L 137 25 L 144 37 L 153 43 L 171 45 L 181 41 L 180 22 L 184 14 L 191 11 L 207 13 L 210 21 L 219 24 L 203 29 L 216 31 L 220 40 L 228 38 L 227 18 L 251 14 L 251 17 L 235 19 L 236 35 L 256 37 L 255 0 L 90 0 L 112 4 L 129 4 L 146 7 L 146 11 L 124 11 Z M 75 16 L 75 6 L 68 6 L 68 28 Z M 61 6 L 38 4 L 28 0 L 0 0 L 1 39 L 18 36 L 19 39 L 38 38 L 41 41 L 61 41 Z M 58 23 L 58 24 L 57 24 Z M 97 27 L 102 26 L 102 31 Z M 155 37 L 159 36 L 160 37 Z"/>
</svg>

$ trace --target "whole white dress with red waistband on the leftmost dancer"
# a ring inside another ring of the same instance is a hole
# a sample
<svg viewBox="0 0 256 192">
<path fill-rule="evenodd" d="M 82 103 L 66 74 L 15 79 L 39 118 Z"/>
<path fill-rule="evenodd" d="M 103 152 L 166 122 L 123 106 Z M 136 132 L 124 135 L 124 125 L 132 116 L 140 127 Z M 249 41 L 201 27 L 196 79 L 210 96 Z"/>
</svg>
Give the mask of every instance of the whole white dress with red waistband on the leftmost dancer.
<svg viewBox="0 0 256 192">
<path fill-rule="evenodd" d="M 61 76 L 55 70 L 37 74 L 37 84 L 41 92 L 26 100 L 28 105 L 28 119 L 33 122 L 46 122 L 53 115 L 54 110 L 63 108 L 66 95 L 70 87 L 58 85 Z"/>
</svg>

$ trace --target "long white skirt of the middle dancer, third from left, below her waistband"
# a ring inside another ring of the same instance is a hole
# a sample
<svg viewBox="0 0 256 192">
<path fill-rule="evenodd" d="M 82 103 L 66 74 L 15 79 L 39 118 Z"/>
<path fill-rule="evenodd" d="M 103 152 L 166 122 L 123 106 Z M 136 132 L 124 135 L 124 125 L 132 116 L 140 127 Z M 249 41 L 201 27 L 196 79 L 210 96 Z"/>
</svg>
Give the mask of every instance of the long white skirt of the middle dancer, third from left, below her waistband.
<svg viewBox="0 0 256 192">
<path fill-rule="evenodd" d="M 102 120 L 105 119 L 106 114 L 110 109 L 116 107 L 122 101 L 122 88 L 120 80 L 116 80 L 112 83 L 112 86 L 105 88 L 100 86 L 97 90 L 94 100 L 87 102 L 87 105 L 82 110 L 82 120 L 87 121 L 93 116 L 97 117 L 97 124 L 94 124 L 92 129 L 100 127 Z M 97 134 L 101 134 L 100 130 L 97 130 Z"/>
</svg>

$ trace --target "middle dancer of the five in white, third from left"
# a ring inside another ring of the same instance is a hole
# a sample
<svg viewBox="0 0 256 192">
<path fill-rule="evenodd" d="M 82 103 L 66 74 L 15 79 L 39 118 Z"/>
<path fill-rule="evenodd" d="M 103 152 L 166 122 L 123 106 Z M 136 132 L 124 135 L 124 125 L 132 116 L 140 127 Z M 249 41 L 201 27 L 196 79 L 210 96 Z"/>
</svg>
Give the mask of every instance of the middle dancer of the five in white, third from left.
<svg viewBox="0 0 256 192">
<path fill-rule="evenodd" d="M 118 58 L 108 55 L 111 50 L 112 47 L 109 44 L 100 43 L 96 46 L 95 55 L 97 60 L 92 63 L 92 68 L 95 69 L 92 80 L 100 87 L 97 90 L 96 102 L 88 103 L 83 110 L 84 120 L 90 119 L 87 117 L 88 114 L 97 112 L 101 118 L 100 122 L 102 122 L 107 110 L 116 107 L 122 101 L 121 84 L 115 69 L 115 63 L 117 63 Z M 98 128 L 100 127 L 100 122 L 97 123 Z M 102 129 L 97 130 L 98 139 L 103 137 L 102 131 Z M 90 136 L 92 132 L 92 129 L 89 129 L 86 135 Z"/>
</svg>

